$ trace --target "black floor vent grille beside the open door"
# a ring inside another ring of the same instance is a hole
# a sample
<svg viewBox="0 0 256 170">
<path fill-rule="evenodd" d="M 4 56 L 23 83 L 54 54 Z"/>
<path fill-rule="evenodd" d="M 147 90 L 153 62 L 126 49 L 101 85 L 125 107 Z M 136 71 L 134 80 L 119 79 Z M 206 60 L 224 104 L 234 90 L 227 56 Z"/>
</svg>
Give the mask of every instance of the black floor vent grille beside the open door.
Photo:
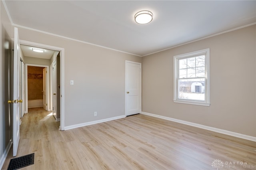
<svg viewBox="0 0 256 170">
<path fill-rule="evenodd" d="M 35 153 L 32 153 L 32 154 L 11 159 L 7 170 L 17 170 L 25 166 L 33 165 L 34 155 Z"/>
</svg>

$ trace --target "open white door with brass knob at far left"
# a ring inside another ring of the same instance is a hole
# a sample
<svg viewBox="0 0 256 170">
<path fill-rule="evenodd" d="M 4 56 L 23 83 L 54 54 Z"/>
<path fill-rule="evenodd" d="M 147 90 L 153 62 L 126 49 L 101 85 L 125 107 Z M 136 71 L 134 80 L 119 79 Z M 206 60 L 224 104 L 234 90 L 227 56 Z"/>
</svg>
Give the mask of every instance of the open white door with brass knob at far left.
<svg viewBox="0 0 256 170">
<path fill-rule="evenodd" d="M 13 55 L 13 156 L 17 155 L 20 141 L 20 42 L 18 28 L 14 28 Z"/>
</svg>

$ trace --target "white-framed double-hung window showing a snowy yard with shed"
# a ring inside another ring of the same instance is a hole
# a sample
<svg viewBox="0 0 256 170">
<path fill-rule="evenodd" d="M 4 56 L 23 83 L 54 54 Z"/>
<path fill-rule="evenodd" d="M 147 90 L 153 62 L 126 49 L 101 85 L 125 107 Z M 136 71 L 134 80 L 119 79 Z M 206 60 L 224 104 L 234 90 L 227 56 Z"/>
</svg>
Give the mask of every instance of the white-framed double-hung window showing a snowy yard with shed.
<svg viewBox="0 0 256 170">
<path fill-rule="evenodd" d="M 210 106 L 210 49 L 175 55 L 174 102 Z"/>
</svg>

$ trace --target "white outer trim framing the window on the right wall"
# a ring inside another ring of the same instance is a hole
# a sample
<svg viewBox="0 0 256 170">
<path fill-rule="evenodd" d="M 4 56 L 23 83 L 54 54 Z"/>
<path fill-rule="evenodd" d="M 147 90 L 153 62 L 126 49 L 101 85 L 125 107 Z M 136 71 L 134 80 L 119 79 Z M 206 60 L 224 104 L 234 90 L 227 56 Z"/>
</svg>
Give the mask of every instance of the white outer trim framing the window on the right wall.
<svg viewBox="0 0 256 170">
<path fill-rule="evenodd" d="M 187 58 L 187 57 L 193 57 L 194 55 L 198 55 L 200 53 L 206 53 L 206 81 L 205 81 L 205 101 L 197 101 L 197 100 L 188 100 L 188 99 L 178 99 L 178 59 Z M 173 63 L 174 63 L 174 103 L 184 103 L 184 104 L 191 104 L 191 105 L 201 105 L 201 106 L 210 106 L 210 48 L 202 49 L 190 53 L 185 53 L 181 55 L 175 55 L 173 57 Z"/>
</svg>

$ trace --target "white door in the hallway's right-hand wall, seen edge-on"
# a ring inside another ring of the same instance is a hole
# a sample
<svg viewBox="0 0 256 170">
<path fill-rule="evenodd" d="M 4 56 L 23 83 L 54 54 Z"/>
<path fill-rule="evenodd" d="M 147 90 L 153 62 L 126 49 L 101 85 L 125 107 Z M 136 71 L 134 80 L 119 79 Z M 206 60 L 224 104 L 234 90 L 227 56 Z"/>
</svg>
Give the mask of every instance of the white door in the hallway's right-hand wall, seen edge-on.
<svg viewBox="0 0 256 170">
<path fill-rule="evenodd" d="M 57 62 L 54 61 L 52 65 L 52 113 L 57 119 Z"/>
</svg>

